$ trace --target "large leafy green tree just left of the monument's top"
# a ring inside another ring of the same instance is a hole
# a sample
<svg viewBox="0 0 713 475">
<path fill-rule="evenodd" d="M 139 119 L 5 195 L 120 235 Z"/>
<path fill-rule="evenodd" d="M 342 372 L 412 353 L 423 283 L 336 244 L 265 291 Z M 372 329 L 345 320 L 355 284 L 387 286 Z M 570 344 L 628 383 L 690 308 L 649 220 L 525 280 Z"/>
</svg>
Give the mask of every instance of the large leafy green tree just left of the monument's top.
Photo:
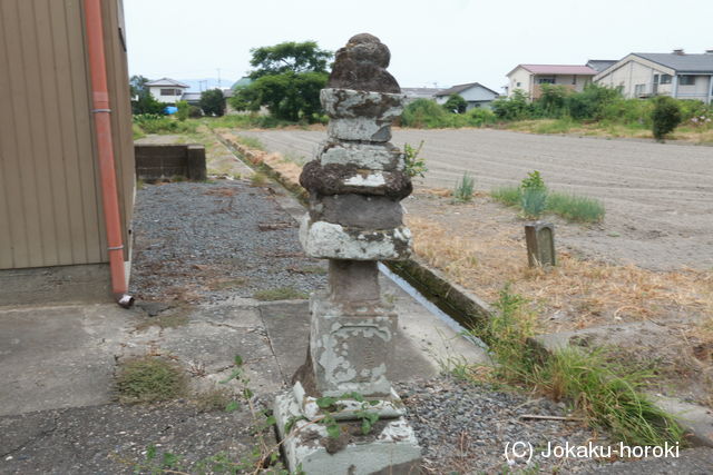
<svg viewBox="0 0 713 475">
<path fill-rule="evenodd" d="M 252 111 L 266 106 L 277 119 L 313 121 L 321 111 L 320 89 L 326 85 L 332 53 L 314 41 L 253 48 L 251 53 L 253 82 L 235 91 L 231 106 Z"/>
</svg>

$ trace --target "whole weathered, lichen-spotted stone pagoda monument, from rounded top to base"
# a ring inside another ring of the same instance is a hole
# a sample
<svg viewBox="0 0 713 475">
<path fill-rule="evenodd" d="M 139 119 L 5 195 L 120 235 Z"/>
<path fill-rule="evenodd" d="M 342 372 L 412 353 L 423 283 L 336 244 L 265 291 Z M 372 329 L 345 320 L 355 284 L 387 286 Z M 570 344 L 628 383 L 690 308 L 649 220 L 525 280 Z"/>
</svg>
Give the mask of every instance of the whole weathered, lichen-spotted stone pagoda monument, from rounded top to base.
<svg viewBox="0 0 713 475">
<path fill-rule="evenodd" d="M 387 376 L 398 326 L 377 268 L 408 257 L 411 244 L 400 204 L 411 180 L 389 142 L 404 96 L 389 60 L 389 48 L 367 33 L 336 52 L 321 91 L 328 139 L 300 178 L 310 191 L 300 239 L 307 255 L 330 259 L 330 276 L 310 301 L 306 363 L 275 402 L 291 471 L 418 472 L 420 447 Z"/>
</svg>

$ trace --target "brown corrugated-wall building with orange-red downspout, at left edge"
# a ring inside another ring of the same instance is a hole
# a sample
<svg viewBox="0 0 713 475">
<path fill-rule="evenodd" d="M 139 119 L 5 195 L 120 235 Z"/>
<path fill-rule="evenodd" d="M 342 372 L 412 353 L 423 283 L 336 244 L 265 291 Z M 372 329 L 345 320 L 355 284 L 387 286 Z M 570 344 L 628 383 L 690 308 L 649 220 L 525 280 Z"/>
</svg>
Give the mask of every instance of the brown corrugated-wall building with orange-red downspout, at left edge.
<svg viewBox="0 0 713 475">
<path fill-rule="evenodd" d="M 0 31 L 0 306 L 110 300 L 136 186 L 121 0 L 2 0 Z"/>
</svg>

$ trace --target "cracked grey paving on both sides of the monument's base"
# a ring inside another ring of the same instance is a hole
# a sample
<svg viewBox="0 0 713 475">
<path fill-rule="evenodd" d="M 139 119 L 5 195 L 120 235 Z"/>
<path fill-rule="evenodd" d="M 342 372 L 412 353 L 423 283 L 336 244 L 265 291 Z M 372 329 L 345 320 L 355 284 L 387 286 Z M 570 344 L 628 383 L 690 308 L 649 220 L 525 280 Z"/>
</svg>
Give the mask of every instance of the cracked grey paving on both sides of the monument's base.
<svg viewBox="0 0 713 475">
<path fill-rule="evenodd" d="M 394 382 L 428 379 L 453 357 L 484 362 L 411 296 L 382 278 L 399 314 Z M 154 316 L 149 316 L 153 314 Z M 306 355 L 306 300 L 217 305 L 66 305 L 0 308 L 0 473 L 131 473 L 150 444 L 195 461 L 255 443 L 246 410 L 202 413 L 193 396 L 168 406 L 121 406 L 114 374 L 127 358 L 162 355 L 191 375 L 194 394 L 221 385 L 241 355 L 250 387 L 271 400 Z M 458 352 L 458 353 L 456 353 Z M 191 465 L 188 465 L 189 467 Z"/>
</svg>

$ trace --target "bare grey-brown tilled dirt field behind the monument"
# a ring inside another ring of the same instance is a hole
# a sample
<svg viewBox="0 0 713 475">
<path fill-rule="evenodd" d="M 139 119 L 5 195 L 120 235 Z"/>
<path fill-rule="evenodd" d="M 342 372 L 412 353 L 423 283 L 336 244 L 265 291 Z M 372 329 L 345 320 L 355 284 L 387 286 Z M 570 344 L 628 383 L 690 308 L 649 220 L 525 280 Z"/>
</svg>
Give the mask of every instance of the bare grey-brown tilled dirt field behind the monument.
<svg viewBox="0 0 713 475">
<path fill-rule="evenodd" d="M 306 160 L 325 138 L 324 130 L 237 135 Z M 477 189 L 488 191 L 516 185 L 536 169 L 554 190 L 602 199 L 604 222 L 559 227 L 558 246 L 648 269 L 713 268 L 713 147 L 488 129 L 394 130 L 392 142 L 420 140 L 429 167 L 426 187 L 452 188 L 469 170 Z"/>
</svg>

